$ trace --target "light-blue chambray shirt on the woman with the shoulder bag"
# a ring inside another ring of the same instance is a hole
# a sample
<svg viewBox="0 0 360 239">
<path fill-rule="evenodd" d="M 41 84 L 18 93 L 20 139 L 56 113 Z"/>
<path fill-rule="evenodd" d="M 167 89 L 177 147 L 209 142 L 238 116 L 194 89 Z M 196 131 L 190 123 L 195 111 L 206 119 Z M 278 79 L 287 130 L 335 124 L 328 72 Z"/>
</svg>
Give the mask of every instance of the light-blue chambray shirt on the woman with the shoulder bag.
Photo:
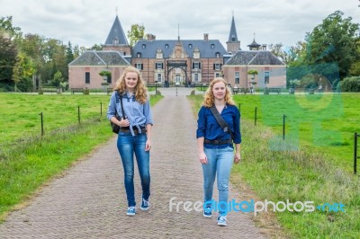
<svg viewBox="0 0 360 239">
<path fill-rule="evenodd" d="M 122 118 L 120 101 L 120 95 L 113 92 L 107 110 L 108 120 L 115 116 L 115 109 Z M 129 95 L 129 93 L 126 92 L 122 94 L 122 105 L 125 115 L 130 122 L 130 132 L 132 136 L 135 136 L 133 127 L 138 128 L 139 132 L 141 132 L 140 127 L 146 127 L 148 124 L 153 124 L 149 100 L 142 104 L 136 101 L 134 94 Z"/>
</svg>

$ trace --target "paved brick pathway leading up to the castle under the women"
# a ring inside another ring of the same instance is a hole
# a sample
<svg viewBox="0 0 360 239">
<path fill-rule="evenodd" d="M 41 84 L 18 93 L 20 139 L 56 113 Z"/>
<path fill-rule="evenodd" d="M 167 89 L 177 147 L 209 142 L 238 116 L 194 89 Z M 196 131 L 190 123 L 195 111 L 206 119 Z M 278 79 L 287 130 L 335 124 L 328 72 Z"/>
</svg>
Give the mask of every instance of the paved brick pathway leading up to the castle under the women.
<svg viewBox="0 0 360 239">
<path fill-rule="evenodd" d="M 12 213 L 0 225 L 0 238 L 263 238 L 248 214 L 230 213 L 228 226 L 220 227 L 215 217 L 185 212 L 183 205 L 179 212 L 175 206 L 169 211 L 173 197 L 175 203 L 202 200 L 202 169 L 196 120 L 184 96 L 191 89 L 179 88 L 177 96 L 174 89 L 160 91 L 166 97 L 153 108 L 148 211 L 125 215 L 123 172 L 113 137 L 41 190 L 28 207 Z M 135 182 L 139 206 L 139 173 Z M 229 199 L 238 199 L 238 193 L 231 190 Z"/>
</svg>

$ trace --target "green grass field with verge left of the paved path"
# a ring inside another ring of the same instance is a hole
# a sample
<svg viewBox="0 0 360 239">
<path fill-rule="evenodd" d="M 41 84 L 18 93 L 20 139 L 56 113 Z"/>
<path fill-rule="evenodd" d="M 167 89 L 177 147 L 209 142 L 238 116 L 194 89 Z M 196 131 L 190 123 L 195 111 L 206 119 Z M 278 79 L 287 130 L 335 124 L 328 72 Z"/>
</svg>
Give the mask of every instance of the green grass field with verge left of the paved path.
<svg viewBox="0 0 360 239">
<path fill-rule="evenodd" d="M 150 102 L 161 98 L 152 95 Z M 0 93 L 0 221 L 43 183 L 113 137 L 106 119 L 109 99 L 109 95 Z"/>
</svg>

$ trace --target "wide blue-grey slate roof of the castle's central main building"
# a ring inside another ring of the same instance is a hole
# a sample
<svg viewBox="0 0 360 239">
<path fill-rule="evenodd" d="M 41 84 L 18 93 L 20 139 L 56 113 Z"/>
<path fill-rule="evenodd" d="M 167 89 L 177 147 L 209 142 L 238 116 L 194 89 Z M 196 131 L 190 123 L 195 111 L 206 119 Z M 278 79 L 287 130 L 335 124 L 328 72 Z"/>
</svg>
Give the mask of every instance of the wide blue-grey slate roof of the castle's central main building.
<svg viewBox="0 0 360 239">
<path fill-rule="evenodd" d="M 141 58 L 156 58 L 157 49 L 162 49 L 163 57 L 169 58 L 177 42 L 177 40 L 139 40 L 131 50 L 131 56 L 136 58 L 140 53 Z M 220 53 L 220 57 L 228 54 L 220 40 L 180 40 L 180 42 L 190 58 L 193 58 L 194 49 L 199 49 L 201 58 L 216 58 L 216 53 Z"/>
</svg>

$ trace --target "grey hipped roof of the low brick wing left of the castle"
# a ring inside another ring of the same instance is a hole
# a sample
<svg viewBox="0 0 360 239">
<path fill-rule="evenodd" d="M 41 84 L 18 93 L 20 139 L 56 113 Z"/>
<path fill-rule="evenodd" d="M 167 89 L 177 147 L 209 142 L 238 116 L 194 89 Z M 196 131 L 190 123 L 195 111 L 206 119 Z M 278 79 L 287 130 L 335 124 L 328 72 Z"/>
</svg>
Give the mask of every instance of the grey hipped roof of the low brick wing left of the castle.
<svg viewBox="0 0 360 239">
<path fill-rule="evenodd" d="M 70 62 L 68 66 L 128 66 L 128 61 L 122 58 L 116 50 L 88 50 Z"/>
</svg>

